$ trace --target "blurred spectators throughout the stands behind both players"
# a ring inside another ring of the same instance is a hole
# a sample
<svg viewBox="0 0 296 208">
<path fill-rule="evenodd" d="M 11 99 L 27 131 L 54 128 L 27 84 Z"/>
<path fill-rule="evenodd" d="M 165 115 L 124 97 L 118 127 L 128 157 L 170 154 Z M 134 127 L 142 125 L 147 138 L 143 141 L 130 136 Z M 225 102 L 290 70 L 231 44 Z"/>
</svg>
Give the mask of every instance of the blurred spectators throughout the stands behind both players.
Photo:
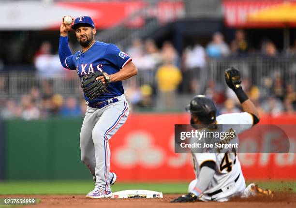
<svg viewBox="0 0 296 208">
<path fill-rule="evenodd" d="M 75 47 L 71 45 L 72 49 Z M 79 47 L 76 46 L 75 49 Z M 73 50 L 75 50 L 73 49 Z M 56 74 L 76 76 L 75 73 L 60 66 L 57 54 L 51 53 L 51 44 L 44 42 L 36 51 L 34 65 L 37 75 L 45 79 L 54 79 Z M 207 59 L 226 57 L 247 57 L 252 52 L 242 30 L 237 30 L 235 39 L 228 45 L 222 33 L 216 32 L 206 47 L 195 44 L 186 47 L 180 56 L 174 45 L 164 42 L 158 48 L 151 39 L 133 40 L 132 45 L 125 49 L 133 58 L 139 70 L 137 80 L 131 79 L 125 86 L 125 95 L 133 109 L 142 110 L 172 110 L 176 109 L 179 94 L 194 95 L 200 91 L 214 99 L 218 106 L 218 113 L 239 112 L 236 96 L 230 90 L 224 91 L 223 83 L 207 80 L 204 89 L 200 89 L 197 76 L 207 66 Z M 278 57 L 275 44 L 269 40 L 262 42 L 262 57 Z M 287 52 L 287 55 L 296 54 L 296 43 Z M 70 74 L 70 75 L 69 75 Z M 77 80 L 78 81 L 78 80 Z M 46 83 L 46 82 L 45 82 Z M 50 82 L 48 82 L 50 83 Z M 2 118 L 39 119 L 53 116 L 79 117 L 86 111 L 82 94 L 79 96 L 55 93 L 50 84 L 42 88 L 32 87 L 29 94 L 22 95 L 20 100 L 13 98 L 1 102 L 0 115 Z M 140 83 L 140 84 L 139 84 Z M 243 79 L 243 88 L 249 98 L 257 105 L 262 113 L 276 115 L 296 111 L 295 86 L 284 83 L 281 75 L 266 77 L 264 89 L 252 84 L 250 78 Z M 262 93 L 264 90 L 264 93 Z M 181 109 L 177 109 L 181 111 Z"/>
</svg>

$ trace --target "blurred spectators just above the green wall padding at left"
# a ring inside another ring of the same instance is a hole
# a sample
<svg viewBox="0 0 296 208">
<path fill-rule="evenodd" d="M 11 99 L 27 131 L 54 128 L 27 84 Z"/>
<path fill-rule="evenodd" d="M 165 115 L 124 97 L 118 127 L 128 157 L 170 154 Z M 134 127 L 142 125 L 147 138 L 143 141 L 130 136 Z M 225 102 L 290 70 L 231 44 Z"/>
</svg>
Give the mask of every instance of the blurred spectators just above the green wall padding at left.
<svg viewBox="0 0 296 208">
<path fill-rule="evenodd" d="M 3 102 L 0 115 L 4 119 L 21 118 L 25 120 L 50 117 L 80 117 L 86 112 L 85 101 L 74 96 L 62 96 L 51 88 L 41 93 L 40 89 L 31 88 L 29 94 L 20 100 L 8 99 Z"/>
</svg>

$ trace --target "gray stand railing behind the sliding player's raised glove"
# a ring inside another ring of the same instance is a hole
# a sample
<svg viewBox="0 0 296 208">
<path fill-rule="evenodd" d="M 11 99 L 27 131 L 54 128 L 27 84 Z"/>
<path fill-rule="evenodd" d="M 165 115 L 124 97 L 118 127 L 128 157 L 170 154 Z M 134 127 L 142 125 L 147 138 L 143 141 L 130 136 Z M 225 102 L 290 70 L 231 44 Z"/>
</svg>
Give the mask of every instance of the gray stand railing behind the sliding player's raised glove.
<svg viewBox="0 0 296 208">
<path fill-rule="evenodd" d="M 296 59 L 294 58 L 245 58 L 245 59 L 210 59 L 207 62 L 208 80 L 224 83 L 224 70 L 234 66 L 242 77 L 256 85 L 261 95 L 266 95 L 266 87 L 281 80 L 282 85 L 296 88 Z M 202 78 L 202 75 L 201 77 Z M 226 86 L 226 85 L 224 85 Z"/>
</svg>

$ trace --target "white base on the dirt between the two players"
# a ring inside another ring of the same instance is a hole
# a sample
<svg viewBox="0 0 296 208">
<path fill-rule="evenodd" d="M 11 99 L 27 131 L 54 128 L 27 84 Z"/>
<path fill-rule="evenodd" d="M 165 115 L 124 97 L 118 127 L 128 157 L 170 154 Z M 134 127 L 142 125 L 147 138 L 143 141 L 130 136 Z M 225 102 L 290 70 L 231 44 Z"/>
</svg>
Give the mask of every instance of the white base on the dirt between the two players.
<svg viewBox="0 0 296 208">
<path fill-rule="evenodd" d="M 121 198 L 163 198 L 163 193 L 148 190 L 125 190 L 112 193 L 112 199 Z"/>
</svg>

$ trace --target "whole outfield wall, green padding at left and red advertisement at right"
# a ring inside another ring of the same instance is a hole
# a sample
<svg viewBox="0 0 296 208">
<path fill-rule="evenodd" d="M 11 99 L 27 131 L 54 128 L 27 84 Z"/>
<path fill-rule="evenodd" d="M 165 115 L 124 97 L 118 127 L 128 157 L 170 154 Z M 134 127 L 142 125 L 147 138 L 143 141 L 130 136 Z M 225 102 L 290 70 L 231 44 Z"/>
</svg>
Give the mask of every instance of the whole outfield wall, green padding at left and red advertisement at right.
<svg viewBox="0 0 296 208">
<path fill-rule="evenodd" d="M 174 153 L 174 124 L 189 114 L 130 114 L 110 139 L 110 171 L 120 181 L 191 180 L 191 154 Z M 5 121 L 5 179 L 92 179 L 80 161 L 83 118 Z M 296 125 L 296 115 L 263 124 Z M 293 126 L 292 126 L 293 127 Z M 296 137 L 291 138 L 296 147 Z M 246 179 L 296 179 L 296 154 L 239 154 Z"/>
</svg>

